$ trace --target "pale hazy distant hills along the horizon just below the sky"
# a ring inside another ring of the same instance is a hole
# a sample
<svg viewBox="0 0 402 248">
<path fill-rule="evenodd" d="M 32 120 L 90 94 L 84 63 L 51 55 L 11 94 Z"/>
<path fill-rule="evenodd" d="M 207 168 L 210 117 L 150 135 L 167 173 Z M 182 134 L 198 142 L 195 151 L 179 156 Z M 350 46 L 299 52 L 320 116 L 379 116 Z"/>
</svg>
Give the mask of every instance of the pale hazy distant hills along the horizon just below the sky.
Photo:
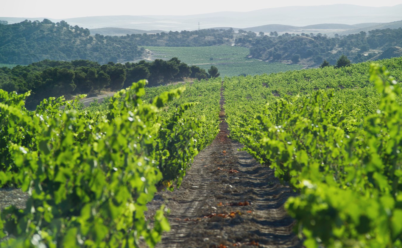
<svg viewBox="0 0 402 248">
<path fill-rule="evenodd" d="M 43 18 L 0 17 L 9 23 Z M 47 18 L 53 22 L 61 19 Z M 170 16 L 88 16 L 64 19 L 70 25 L 78 25 L 88 29 L 118 27 L 140 30 L 182 31 L 215 27 L 257 27 L 261 25 L 281 23 L 281 25 L 307 26 L 318 23 L 339 23 L 355 25 L 356 23 L 388 23 L 402 20 L 402 4 L 386 7 L 367 7 L 351 4 L 333 4 L 321 6 L 289 6 L 266 8 L 249 12 L 214 12 L 207 14 Z"/>
</svg>

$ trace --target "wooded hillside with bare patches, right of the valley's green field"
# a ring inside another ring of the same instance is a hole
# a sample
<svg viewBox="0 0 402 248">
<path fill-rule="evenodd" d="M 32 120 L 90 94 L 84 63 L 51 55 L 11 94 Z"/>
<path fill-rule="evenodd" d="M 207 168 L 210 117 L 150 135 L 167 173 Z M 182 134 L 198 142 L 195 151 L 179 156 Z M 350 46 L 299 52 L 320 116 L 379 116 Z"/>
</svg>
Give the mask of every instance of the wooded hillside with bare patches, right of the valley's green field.
<svg viewBox="0 0 402 248">
<path fill-rule="evenodd" d="M 250 37 L 244 34 L 236 39 L 236 45 L 250 47 L 250 55 L 265 61 L 292 61 L 320 65 L 324 59 L 336 64 L 340 55 L 346 55 L 353 63 L 367 61 L 377 55 L 373 50 L 384 51 L 402 46 L 402 29 L 376 29 L 346 36 L 285 33 Z"/>
</svg>

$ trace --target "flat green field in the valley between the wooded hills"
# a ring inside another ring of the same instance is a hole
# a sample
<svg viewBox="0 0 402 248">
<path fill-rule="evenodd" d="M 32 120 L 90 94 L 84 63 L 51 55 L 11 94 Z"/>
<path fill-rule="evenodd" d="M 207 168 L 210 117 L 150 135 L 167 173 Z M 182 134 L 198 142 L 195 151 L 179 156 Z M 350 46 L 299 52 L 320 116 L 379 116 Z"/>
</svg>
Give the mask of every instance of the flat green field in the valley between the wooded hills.
<svg viewBox="0 0 402 248">
<path fill-rule="evenodd" d="M 255 75 L 263 73 L 299 70 L 304 66 L 270 63 L 246 57 L 248 48 L 228 45 L 211 47 L 144 47 L 149 49 L 150 59 L 178 57 L 182 62 L 204 69 L 216 66 L 221 76 Z M 213 58 L 213 59 L 211 59 Z"/>
</svg>

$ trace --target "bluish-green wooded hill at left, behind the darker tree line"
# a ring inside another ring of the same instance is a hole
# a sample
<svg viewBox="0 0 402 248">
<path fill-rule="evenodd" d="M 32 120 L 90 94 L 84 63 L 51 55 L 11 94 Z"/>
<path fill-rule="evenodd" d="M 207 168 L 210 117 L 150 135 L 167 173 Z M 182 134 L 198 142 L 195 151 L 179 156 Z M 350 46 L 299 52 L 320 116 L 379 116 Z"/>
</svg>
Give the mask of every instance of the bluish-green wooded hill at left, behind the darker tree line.
<svg viewBox="0 0 402 248">
<path fill-rule="evenodd" d="M 133 37 L 91 36 L 88 29 L 72 27 L 65 21 L 0 24 L 0 37 L 0 63 L 4 64 L 31 64 L 44 59 L 88 59 L 105 64 L 130 61 L 142 54 Z"/>
</svg>

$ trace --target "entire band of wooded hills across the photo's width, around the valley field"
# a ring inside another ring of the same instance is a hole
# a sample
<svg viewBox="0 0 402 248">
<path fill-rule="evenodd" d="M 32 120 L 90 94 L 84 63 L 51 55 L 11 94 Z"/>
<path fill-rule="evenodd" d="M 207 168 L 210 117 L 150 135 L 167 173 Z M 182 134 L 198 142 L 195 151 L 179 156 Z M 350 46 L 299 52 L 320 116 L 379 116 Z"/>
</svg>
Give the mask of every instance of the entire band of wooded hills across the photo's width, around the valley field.
<svg viewBox="0 0 402 248">
<path fill-rule="evenodd" d="M 344 54 L 353 63 L 367 61 L 391 47 L 401 47 L 402 29 L 377 29 L 352 35 L 304 34 L 271 32 L 257 36 L 252 31 L 233 29 L 201 29 L 156 34 L 124 36 L 90 35 L 88 29 L 70 26 L 65 21 L 52 23 L 44 19 L 11 25 L 0 24 L 0 63 L 30 64 L 43 59 L 88 59 L 100 64 L 133 61 L 141 57 L 137 46 L 205 47 L 236 45 L 250 49 L 253 58 L 271 62 L 287 62 L 318 66 L 324 59 L 335 64 Z M 386 53 L 388 54 L 388 53 Z M 385 54 L 385 55 L 386 55 Z M 384 55 L 384 56 L 385 56 Z M 173 56 L 177 57 L 177 56 Z M 170 58 L 168 58 L 170 59 Z M 179 59 L 181 59 L 179 57 Z"/>
</svg>

